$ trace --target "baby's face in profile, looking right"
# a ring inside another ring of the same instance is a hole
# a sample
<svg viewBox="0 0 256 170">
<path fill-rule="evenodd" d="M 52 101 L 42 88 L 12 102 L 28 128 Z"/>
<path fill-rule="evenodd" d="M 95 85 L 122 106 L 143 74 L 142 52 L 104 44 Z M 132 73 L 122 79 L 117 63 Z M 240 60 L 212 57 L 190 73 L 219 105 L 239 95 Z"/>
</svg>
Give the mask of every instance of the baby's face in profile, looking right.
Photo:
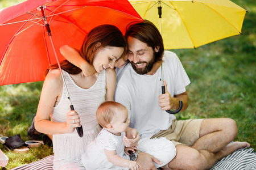
<svg viewBox="0 0 256 170">
<path fill-rule="evenodd" d="M 117 109 L 113 120 L 113 127 L 118 132 L 124 132 L 129 128 L 130 120 L 127 109 Z"/>
</svg>

